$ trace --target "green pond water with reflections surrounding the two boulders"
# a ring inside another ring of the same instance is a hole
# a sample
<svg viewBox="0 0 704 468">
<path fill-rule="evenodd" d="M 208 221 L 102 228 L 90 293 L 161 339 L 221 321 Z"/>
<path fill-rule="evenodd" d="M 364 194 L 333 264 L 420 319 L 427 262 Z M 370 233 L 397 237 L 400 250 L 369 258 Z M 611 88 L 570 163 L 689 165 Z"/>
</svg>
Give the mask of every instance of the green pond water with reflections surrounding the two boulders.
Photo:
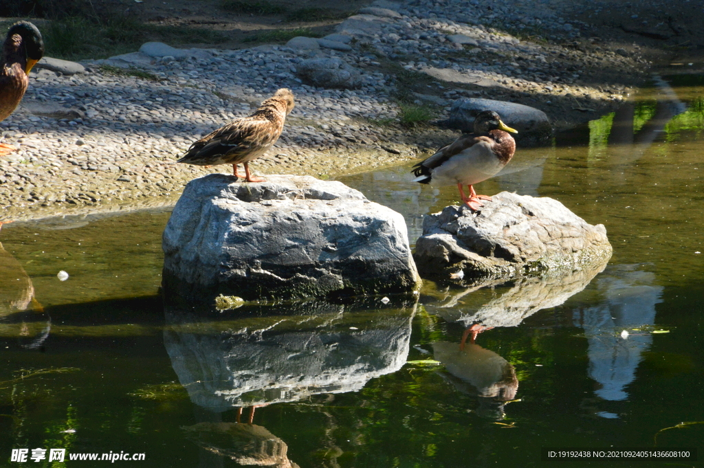
<svg viewBox="0 0 704 468">
<path fill-rule="evenodd" d="M 701 466 L 540 451 L 704 457 L 704 112 L 701 83 L 671 81 L 685 113 L 643 92 L 477 186 L 605 224 L 608 265 L 562 283 L 203 312 L 159 294 L 168 210 L 4 226 L 0 467 L 111 464 L 18 464 L 17 448 L 153 467 Z M 341 181 L 403 213 L 413 240 L 458 194 L 409 167 Z M 477 317 L 494 328 L 460 350 Z"/>
</svg>

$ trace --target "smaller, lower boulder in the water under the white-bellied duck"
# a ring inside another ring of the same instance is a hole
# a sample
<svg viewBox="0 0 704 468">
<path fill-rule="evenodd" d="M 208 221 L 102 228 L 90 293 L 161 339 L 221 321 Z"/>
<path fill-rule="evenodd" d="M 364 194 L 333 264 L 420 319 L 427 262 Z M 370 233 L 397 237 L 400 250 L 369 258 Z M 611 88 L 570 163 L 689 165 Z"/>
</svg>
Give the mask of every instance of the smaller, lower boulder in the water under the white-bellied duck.
<svg viewBox="0 0 704 468">
<path fill-rule="evenodd" d="M 423 277 L 465 282 L 579 270 L 609 258 L 603 224 L 587 224 L 552 198 L 501 192 L 477 213 L 448 206 L 423 220 L 415 261 Z M 460 273 L 461 272 L 461 273 Z"/>
</svg>

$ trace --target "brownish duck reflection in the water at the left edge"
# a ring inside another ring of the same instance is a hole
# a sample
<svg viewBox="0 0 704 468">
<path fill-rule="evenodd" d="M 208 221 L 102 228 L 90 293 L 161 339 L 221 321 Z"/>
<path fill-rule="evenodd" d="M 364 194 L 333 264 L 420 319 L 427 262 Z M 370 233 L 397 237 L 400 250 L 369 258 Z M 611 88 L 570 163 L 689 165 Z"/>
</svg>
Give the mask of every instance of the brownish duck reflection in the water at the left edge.
<svg viewBox="0 0 704 468">
<path fill-rule="evenodd" d="M 34 298 L 32 279 L 0 243 L 0 336 L 35 349 L 42 346 L 50 330 L 51 319 Z"/>
</svg>

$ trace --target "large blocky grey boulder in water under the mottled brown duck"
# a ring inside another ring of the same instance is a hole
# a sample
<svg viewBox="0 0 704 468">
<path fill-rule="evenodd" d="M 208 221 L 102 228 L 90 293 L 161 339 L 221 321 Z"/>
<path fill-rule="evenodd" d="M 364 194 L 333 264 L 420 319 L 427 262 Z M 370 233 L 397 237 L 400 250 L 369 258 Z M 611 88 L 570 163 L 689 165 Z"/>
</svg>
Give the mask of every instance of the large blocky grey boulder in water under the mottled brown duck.
<svg viewBox="0 0 704 468">
<path fill-rule="evenodd" d="M 192 180 L 163 251 L 165 288 L 194 298 L 406 293 L 420 281 L 402 215 L 309 176 Z"/>
</svg>

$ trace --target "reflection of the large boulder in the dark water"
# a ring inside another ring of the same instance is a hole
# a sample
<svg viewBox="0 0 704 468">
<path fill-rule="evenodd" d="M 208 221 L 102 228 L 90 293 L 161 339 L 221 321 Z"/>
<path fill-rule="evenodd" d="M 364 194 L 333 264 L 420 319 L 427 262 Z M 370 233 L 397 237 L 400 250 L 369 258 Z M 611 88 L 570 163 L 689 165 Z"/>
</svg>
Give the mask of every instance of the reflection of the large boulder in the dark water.
<svg viewBox="0 0 704 468">
<path fill-rule="evenodd" d="M 370 310 L 310 301 L 245 305 L 213 321 L 168 305 L 164 341 L 191 400 L 224 411 L 357 391 L 395 372 L 406 362 L 414 311 L 415 302 Z"/>
</svg>

